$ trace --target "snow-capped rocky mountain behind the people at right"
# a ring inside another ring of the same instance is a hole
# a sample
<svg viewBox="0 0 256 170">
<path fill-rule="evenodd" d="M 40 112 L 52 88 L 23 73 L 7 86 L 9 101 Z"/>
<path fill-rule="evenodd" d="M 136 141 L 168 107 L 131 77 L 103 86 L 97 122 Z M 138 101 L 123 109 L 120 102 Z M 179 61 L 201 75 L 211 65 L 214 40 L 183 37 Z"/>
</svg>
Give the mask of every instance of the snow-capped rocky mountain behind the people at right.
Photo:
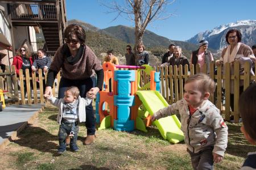
<svg viewBox="0 0 256 170">
<path fill-rule="evenodd" d="M 209 47 L 216 50 L 225 48 L 225 35 L 229 29 L 239 29 L 242 33 L 242 42 L 251 46 L 256 44 L 256 20 L 238 20 L 236 23 L 220 25 L 210 31 L 200 32 L 187 40 L 193 44 L 198 44 L 200 40 L 207 40 Z"/>
</svg>

